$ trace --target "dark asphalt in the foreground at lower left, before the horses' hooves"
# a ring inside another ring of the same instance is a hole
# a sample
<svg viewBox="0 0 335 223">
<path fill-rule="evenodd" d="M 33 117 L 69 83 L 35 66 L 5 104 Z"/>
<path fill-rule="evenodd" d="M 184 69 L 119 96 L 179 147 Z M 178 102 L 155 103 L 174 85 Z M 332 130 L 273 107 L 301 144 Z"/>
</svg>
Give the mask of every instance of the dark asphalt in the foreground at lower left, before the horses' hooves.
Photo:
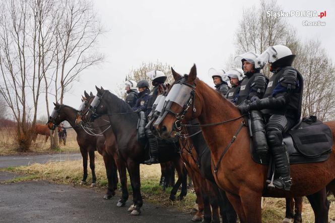
<svg viewBox="0 0 335 223">
<path fill-rule="evenodd" d="M 104 200 L 103 191 L 44 181 L 1 184 L 12 173 L 0 172 L 0 222 L 191 222 L 191 215 L 144 200 L 142 213 L 131 216 L 117 207 L 119 194 Z"/>
</svg>

